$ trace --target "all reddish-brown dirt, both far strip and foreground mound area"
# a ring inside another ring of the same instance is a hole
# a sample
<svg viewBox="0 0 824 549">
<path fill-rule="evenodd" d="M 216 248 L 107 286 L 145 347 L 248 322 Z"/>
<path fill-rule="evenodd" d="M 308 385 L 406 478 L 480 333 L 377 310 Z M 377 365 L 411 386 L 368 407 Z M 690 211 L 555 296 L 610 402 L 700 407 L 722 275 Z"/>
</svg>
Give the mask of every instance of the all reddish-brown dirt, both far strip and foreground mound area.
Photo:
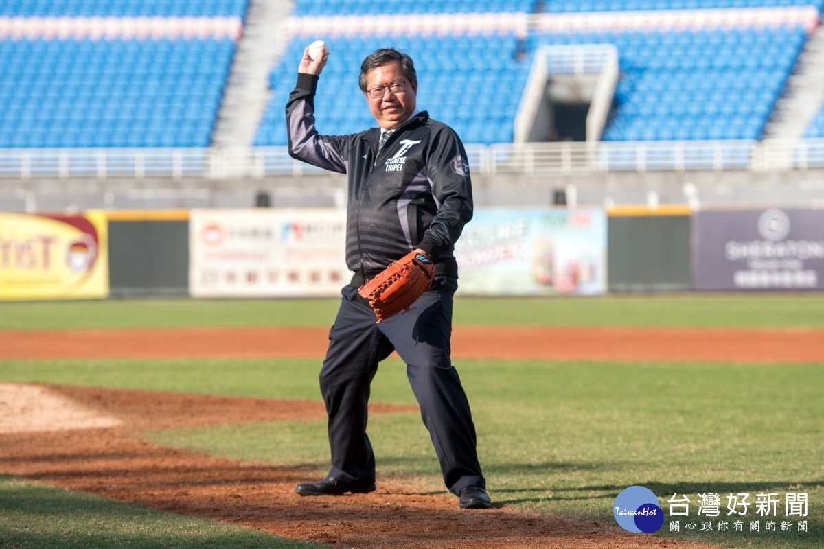
<svg viewBox="0 0 824 549">
<path fill-rule="evenodd" d="M 320 358 L 325 336 L 325 330 L 314 328 L 6 331 L 0 332 L 0 358 Z M 456 328 L 453 354 L 821 362 L 824 331 Z M 26 395 L 39 396 L 26 402 Z M 67 417 L 66 409 L 75 418 L 68 424 L 58 421 Z M 372 413 L 413 410 L 372 407 Z M 505 505 L 461 511 L 442 486 L 410 477 L 379 479 L 372 494 L 302 498 L 294 485 L 307 480 L 316 463 L 288 468 L 243 463 L 164 448 L 140 436 L 142 429 L 324 416 L 320 402 L 0 384 L 0 472 L 334 547 L 708 547 L 624 533 L 611 520 L 581 523 Z M 110 423 L 95 423 L 101 418 Z"/>
</svg>

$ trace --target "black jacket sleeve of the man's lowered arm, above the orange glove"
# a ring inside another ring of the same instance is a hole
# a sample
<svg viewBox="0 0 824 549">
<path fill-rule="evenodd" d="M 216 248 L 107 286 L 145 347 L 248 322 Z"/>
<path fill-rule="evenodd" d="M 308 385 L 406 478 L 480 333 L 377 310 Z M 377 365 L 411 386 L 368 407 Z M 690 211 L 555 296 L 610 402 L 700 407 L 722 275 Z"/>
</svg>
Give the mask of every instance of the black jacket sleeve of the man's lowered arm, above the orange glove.
<svg viewBox="0 0 824 549">
<path fill-rule="evenodd" d="M 427 174 L 438 213 L 419 244 L 432 258 L 452 250 L 464 225 L 472 218 L 472 180 L 466 150 L 452 128 L 433 133 L 427 155 Z"/>
</svg>

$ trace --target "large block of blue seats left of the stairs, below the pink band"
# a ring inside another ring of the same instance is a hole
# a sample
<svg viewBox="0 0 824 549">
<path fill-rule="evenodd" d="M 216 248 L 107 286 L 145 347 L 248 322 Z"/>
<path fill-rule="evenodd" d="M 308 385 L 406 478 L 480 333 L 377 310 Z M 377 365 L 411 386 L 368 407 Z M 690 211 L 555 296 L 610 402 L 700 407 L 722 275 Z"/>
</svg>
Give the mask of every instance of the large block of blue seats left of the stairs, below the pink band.
<svg viewBox="0 0 824 549">
<path fill-rule="evenodd" d="M 12 103 L 4 118 L 16 133 L 2 143 L 208 144 L 233 50 L 234 42 L 228 39 L 0 40 L 0 51 L 14 60 L 0 70 L 0 102 Z M 152 116 L 156 105 L 171 101 L 207 123 L 175 137 L 183 130 L 172 117 Z M 139 137 L 138 128 L 148 137 Z"/>
</svg>

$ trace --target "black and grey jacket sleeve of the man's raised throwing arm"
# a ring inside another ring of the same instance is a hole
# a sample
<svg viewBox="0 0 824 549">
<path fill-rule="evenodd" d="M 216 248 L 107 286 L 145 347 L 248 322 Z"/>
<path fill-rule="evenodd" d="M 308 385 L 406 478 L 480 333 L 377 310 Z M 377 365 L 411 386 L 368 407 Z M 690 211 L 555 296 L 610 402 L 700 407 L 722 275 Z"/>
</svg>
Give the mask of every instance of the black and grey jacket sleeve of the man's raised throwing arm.
<svg viewBox="0 0 824 549">
<path fill-rule="evenodd" d="M 325 170 L 346 173 L 346 136 L 322 136 L 315 128 L 318 77 L 299 73 L 286 104 L 289 156 Z"/>
</svg>

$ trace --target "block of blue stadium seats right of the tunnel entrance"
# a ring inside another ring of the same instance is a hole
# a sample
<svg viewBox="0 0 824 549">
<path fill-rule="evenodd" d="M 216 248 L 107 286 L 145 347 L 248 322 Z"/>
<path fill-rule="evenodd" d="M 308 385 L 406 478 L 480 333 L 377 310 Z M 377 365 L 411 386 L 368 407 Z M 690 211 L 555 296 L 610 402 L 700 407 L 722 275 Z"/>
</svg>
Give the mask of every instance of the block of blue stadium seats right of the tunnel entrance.
<svg viewBox="0 0 824 549">
<path fill-rule="evenodd" d="M 603 138 L 683 138 L 687 132 L 677 124 L 683 116 L 707 120 L 691 128 L 693 139 L 761 137 L 798 55 L 798 37 L 795 27 L 616 35 L 621 69 L 632 77 L 618 88 L 616 129 L 606 128 Z M 538 35 L 535 44 L 576 40 L 589 37 Z"/>
</svg>

